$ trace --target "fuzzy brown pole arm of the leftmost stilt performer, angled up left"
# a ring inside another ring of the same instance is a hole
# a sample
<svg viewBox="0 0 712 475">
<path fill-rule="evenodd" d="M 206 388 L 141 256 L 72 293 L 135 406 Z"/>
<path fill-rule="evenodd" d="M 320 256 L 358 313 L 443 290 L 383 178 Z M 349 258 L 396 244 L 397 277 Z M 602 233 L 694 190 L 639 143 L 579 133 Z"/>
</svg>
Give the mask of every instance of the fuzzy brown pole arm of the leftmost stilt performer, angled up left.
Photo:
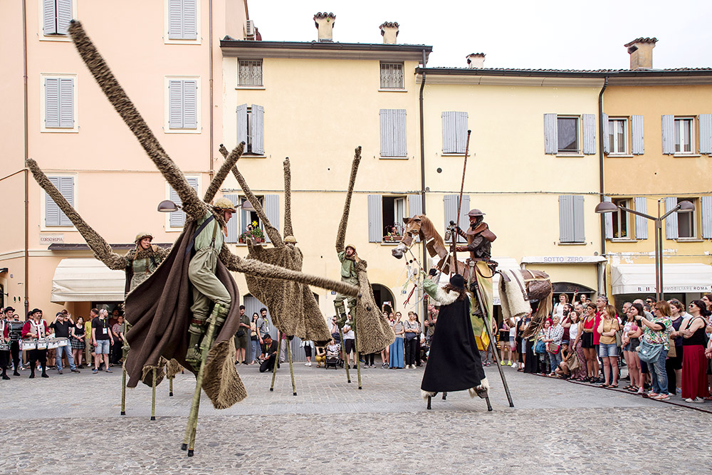
<svg viewBox="0 0 712 475">
<path fill-rule="evenodd" d="M 111 246 L 105 241 L 91 226 L 89 226 L 74 207 L 69 204 L 67 199 L 59 192 L 46 174 L 40 169 L 35 160 L 28 158 L 26 161 L 28 169 L 32 173 L 36 182 L 47 192 L 49 197 L 54 200 L 59 209 L 72 221 L 77 231 L 87 241 L 87 244 L 94 251 L 94 256 L 105 265 L 114 270 L 123 270 L 127 266 L 127 261 L 124 256 L 120 256 L 112 251 Z"/>
</svg>

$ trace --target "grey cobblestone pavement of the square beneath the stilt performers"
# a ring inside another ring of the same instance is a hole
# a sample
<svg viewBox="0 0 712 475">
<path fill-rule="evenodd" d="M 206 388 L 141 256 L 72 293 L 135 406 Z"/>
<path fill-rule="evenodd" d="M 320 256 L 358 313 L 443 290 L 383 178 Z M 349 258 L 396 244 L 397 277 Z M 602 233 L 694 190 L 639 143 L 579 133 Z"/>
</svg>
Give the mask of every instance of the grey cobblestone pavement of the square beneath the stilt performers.
<svg viewBox="0 0 712 475">
<path fill-rule="evenodd" d="M 420 398 L 422 369 L 355 371 L 286 365 L 271 376 L 239 371 L 248 398 L 218 411 L 203 397 L 196 453 L 179 450 L 194 388 L 179 375 L 174 397 L 127 393 L 120 370 L 2 381 L 1 474 L 710 473 L 712 414 L 505 368 L 515 407 L 488 367 L 493 412 L 466 392 Z M 712 404 L 701 408 L 712 410 Z M 667 434 L 673 435 L 668 437 Z"/>
</svg>

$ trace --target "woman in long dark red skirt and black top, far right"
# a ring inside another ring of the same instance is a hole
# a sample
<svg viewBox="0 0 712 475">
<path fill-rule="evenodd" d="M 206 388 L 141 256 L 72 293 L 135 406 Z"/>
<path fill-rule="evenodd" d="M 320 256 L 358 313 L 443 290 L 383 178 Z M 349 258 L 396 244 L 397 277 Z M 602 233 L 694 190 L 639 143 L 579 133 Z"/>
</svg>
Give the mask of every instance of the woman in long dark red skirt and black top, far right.
<svg viewBox="0 0 712 475">
<path fill-rule="evenodd" d="M 705 328 L 707 307 L 703 301 L 692 301 L 690 317 L 680 324 L 683 335 L 682 398 L 686 402 L 704 402 L 709 397 L 707 386 L 707 358 L 705 357 Z"/>
</svg>

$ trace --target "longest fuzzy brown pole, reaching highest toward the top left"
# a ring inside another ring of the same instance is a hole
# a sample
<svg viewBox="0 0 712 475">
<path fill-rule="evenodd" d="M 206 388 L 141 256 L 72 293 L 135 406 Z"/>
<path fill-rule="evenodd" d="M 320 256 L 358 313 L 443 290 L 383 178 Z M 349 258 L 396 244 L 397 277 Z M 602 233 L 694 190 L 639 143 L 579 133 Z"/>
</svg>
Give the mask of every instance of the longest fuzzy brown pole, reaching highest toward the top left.
<svg viewBox="0 0 712 475">
<path fill-rule="evenodd" d="M 178 193 L 183 203 L 184 212 L 191 216 L 192 219 L 203 217 L 209 211 L 207 205 L 201 201 L 195 190 L 188 184 L 183 172 L 163 150 L 160 142 L 153 135 L 153 132 L 151 132 L 145 120 L 143 120 L 78 21 L 72 20 L 70 22 L 69 34 L 79 55 L 96 79 L 101 90 L 103 90 L 106 98 L 136 136 L 143 150 L 161 171 L 168 184 Z"/>
</svg>

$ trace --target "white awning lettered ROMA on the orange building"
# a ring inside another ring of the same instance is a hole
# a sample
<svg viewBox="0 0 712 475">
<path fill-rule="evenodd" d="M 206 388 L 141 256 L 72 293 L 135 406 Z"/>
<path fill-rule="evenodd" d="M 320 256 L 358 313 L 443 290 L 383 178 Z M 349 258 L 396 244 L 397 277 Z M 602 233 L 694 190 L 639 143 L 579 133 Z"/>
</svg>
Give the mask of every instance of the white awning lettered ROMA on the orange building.
<svg viewBox="0 0 712 475">
<path fill-rule="evenodd" d="M 655 293 L 654 264 L 611 266 L 613 293 Z M 664 292 L 709 292 L 712 266 L 702 263 L 663 264 Z"/>
</svg>

